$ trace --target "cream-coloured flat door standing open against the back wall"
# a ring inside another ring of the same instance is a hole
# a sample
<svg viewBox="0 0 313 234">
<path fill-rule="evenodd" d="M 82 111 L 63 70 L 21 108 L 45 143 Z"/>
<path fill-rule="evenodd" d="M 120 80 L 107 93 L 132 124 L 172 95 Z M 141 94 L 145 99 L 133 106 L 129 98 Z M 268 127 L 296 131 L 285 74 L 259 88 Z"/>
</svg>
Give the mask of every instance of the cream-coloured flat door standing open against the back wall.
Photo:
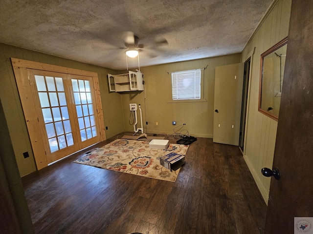
<svg viewBox="0 0 313 234">
<path fill-rule="evenodd" d="M 213 142 L 239 145 L 244 66 L 215 68 Z"/>
</svg>

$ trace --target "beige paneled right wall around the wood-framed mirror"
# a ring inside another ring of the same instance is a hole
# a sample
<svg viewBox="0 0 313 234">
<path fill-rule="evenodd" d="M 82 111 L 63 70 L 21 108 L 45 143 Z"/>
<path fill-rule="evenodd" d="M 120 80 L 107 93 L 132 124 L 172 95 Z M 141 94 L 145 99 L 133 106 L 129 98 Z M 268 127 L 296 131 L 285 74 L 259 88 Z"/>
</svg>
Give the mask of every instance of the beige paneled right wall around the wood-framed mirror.
<svg viewBox="0 0 313 234">
<path fill-rule="evenodd" d="M 290 10 L 291 0 L 278 0 L 242 53 L 244 62 L 255 48 L 249 83 L 244 158 L 266 203 L 270 178 L 262 176 L 261 169 L 272 168 L 277 121 L 258 112 L 260 57 L 263 52 L 288 36 Z"/>
</svg>

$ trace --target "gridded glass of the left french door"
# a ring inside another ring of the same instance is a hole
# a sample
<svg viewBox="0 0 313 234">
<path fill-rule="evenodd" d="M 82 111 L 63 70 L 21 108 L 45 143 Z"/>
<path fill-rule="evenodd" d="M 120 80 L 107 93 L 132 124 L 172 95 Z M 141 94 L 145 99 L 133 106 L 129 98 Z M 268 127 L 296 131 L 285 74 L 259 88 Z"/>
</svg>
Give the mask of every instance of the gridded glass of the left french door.
<svg viewBox="0 0 313 234">
<path fill-rule="evenodd" d="M 73 145 L 63 79 L 35 75 L 35 81 L 51 153 Z"/>
</svg>

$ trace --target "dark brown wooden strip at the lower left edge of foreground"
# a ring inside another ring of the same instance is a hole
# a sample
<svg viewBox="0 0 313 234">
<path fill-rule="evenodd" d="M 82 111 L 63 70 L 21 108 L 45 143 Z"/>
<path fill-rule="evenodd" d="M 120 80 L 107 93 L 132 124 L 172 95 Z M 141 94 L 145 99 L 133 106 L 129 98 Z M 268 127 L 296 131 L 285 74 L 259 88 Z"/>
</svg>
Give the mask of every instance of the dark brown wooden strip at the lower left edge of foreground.
<svg viewBox="0 0 313 234">
<path fill-rule="evenodd" d="M 0 227 L 2 233 L 34 233 L 11 137 L 0 101 Z"/>
</svg>

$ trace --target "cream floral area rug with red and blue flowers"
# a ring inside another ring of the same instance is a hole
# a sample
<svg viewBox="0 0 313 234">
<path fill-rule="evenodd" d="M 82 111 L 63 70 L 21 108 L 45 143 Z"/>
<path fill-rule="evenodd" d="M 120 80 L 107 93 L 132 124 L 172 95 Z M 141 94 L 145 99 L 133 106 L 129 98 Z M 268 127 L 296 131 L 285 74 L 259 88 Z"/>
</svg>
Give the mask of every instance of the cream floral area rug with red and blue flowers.
<svg viewBox="0 0 313 234">
<path fill-rule="evenodd" d="M 150 149 L 149 141 L 116 139 L 74 162 L 175 182 L 180 169 L 171 172 L 160 165 L 159 158 L 171 152 L 185 155 L 187 149 L 188 145 L 179 144 L 169 144 L 166 150 Z"/>
</svg>

